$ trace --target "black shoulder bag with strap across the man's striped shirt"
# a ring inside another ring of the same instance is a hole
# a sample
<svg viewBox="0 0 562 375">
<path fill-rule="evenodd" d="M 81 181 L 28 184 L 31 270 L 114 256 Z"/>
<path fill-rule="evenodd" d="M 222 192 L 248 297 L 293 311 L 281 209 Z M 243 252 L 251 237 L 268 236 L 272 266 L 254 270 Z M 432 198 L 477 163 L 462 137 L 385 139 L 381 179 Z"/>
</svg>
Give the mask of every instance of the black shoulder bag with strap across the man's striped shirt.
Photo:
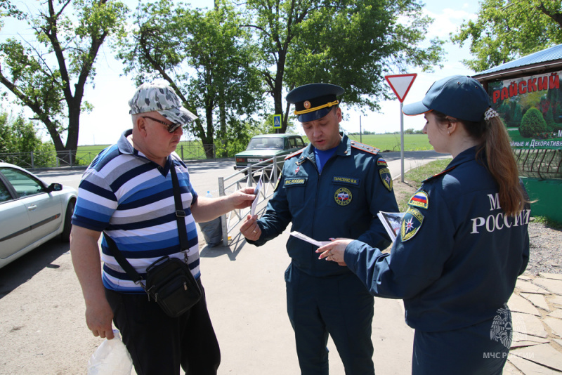
<svg viewBox="0 0 562 375">
<path fill-rule="evenodd" d="M 140 284 L 150 298 L 157 302 L 164 313 L 170 317 L 178 317 L 192 308 L 201 299 L 201 290 L 195 277 L 188 267 L 188 232 L 185 230 L 185 211 L 181 204 L 180 187 L 176 167 L 171 164 L 171 180 L 174 187 L 174 202 L 176 204 L 176 219 L 178 221 L 178 235 L 180 246 L 185 261 L 178 258 L 162 256 L 146 268 L 146 286 L 143 277 L 136 272 L 131 263 L 126 260 L 122 252 L 117 249 L 117 244 L 108 235 L 105 240 L 110 246 L 110 251 L 115 260 L 125 270 L 126 274 L 133 279 L 135 284 Z"/>
</svg>

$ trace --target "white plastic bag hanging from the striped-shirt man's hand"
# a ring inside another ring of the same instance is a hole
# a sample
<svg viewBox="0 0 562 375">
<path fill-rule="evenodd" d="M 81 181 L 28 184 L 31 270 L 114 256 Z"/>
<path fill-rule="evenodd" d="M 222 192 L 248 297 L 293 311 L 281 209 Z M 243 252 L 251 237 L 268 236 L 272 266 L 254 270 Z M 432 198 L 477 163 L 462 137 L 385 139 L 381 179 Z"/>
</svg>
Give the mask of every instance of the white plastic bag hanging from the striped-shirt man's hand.
<svg viewBox="0 0 562 375">
<path fill-rule="evenodd" d="M 88 361 L 88 375 L 130 375 L 133 368 L 131 355 L 117 329 L 114 338 L 107 338 L 98 346 Z"/>
</svg>

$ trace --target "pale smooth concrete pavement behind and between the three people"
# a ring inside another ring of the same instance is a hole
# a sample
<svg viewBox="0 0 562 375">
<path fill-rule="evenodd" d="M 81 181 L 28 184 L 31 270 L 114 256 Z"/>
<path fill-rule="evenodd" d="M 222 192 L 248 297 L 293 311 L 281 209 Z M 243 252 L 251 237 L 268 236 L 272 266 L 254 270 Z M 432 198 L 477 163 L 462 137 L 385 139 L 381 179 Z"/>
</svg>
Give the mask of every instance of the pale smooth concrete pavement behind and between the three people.
<svg viewBox="0 0 562 375">
<path fill-rule="evenodd" d="M 440 156 L 409 154 L 405 171 Z M 446 157 L 446 155 L 444 155 Z M 400 177 L 400 153 L 384 154 L 393 178 Z M 205 185 L 208 181 L 197 181 Z M 261 206 L 263 209 L 263 206 Z M 284 274 L 290 263 L 285 243 L 290 227 L 266 245 L 247 244 L 234 230 L 230 246 L 201 249 L 202 281 L 223 356 L 218 374 L 299 374 L 294 334 L 287 317 Z M 375 371 L 409 374 L 413 330 L 400 300 L 375 298 L 372 325 Z M 330 374 L 344 367 L 329 341 Z"/>
</svg>

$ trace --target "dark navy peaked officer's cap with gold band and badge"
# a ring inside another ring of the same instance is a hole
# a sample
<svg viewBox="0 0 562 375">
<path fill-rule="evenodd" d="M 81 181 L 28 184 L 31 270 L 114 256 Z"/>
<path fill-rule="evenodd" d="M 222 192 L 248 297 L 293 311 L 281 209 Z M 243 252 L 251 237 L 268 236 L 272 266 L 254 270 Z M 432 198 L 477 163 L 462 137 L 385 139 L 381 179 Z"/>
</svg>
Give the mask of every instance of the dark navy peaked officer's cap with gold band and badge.
<svg viewBox="0 0 562 375">
<path fill-rule="evenodd" d="M 325 117 L 334 105 L 339 104 L 337 96 L 344 88 L 332 84 L 307 84 L 292 89 L 287 94 L 287 103 L 294 104 L 294 114 L 301 122 Z"/>
</svg>

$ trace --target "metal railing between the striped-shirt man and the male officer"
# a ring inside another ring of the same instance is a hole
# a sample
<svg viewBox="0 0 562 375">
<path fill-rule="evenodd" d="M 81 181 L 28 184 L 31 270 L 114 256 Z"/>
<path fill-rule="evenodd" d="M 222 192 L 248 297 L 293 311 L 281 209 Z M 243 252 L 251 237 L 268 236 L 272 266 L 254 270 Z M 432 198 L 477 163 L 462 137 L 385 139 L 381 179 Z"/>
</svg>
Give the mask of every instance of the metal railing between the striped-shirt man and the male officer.
<svg viewBox="0 0 562 375">
<path fill-rule="evenodd" d="M 257 207 L 260 209 L 265 209 L 263 203 L 267 203 L 269 198 L 273 196 L 275 190 L 275 184 L 277 183 L 278 172 L 281 169 L 284 159 L 282 157 L 277 160 L 277 157 L 272 157 L 263 162 L 256 164 L 248 164 L 248 166 L 228 177 L 218 178 L 218 194 L 223 197 L 226 195 L 226 191 L 234 188 L 234 190 L 240 190 L 245 186 L 254 186 L 254 184 L 259 182 L 261 178 L 262 187 L 259 192 L 258 202 L 256 202 Z M 273 162 L 273 164 L 271 164 Z M 251 212 L 251 208 L 247 209 L 237 209 L 230 211 L 226 215 L 221 216 L 221 225 L 223 233 L 223 245 L 228 246 L 228 240 L 230 232 L 236 226 L 244 220 L 248 213 Z"/>
</svg>

